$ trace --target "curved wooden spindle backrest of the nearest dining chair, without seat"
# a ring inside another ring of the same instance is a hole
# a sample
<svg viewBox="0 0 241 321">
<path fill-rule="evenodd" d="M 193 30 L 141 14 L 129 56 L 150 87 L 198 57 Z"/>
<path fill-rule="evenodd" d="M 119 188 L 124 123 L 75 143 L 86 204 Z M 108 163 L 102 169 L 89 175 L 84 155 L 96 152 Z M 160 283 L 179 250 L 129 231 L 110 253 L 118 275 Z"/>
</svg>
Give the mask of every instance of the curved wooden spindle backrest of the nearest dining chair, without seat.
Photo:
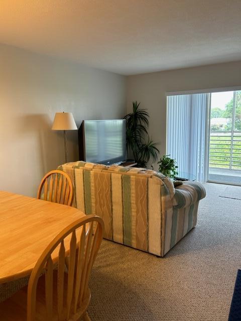
<svg viewBox="0 0 241 321">
<path fill-rule="evenodd" d="M 102 240 L 103 228 L 100 217 L 88 215 L 66 227 L 47 246 L 30 276 L 27 321 L 34 321 L 38 313 L 36 311 L 37 284 L 43 272 L 45 273 L 45 320 L 53 319 L 53 292 L 57 293 L 58 320 L 77 319 L 78 311 L 81 310 L 83 301 L 86 301 L 86 295 L 90 298 L 88 279 Z M 65 249 L 67 242 L 69 251 Z M 53 262 L 51 255 L 56 248 L 58 248 L 58 262 Z M 66 256 L 69 258 L 68 274 L 64 271 Z M 57 270 L 55 263 L 57 263 Z M 57 285 L 56 282 L 53 285 L 54 271 L 57 273 Z M 53 288 L 54 286 L 56 288 Z"/>
</svg>

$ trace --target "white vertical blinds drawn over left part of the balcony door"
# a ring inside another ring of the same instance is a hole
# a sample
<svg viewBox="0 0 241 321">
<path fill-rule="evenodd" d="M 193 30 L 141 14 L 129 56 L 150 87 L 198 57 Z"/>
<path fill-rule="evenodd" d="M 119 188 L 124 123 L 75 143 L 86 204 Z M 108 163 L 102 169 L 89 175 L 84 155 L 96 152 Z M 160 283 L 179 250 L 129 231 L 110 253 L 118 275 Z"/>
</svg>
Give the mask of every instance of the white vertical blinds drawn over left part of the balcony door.
<svg viewBox="0 0 241 321">
<path fill-rule="evenodd" d="M 179 173 L 192 174 L 200 182 L 205 180 L 208 95 L 175 95 L 167 98 L 167 153 L 176 159 Z"/>
</svg>

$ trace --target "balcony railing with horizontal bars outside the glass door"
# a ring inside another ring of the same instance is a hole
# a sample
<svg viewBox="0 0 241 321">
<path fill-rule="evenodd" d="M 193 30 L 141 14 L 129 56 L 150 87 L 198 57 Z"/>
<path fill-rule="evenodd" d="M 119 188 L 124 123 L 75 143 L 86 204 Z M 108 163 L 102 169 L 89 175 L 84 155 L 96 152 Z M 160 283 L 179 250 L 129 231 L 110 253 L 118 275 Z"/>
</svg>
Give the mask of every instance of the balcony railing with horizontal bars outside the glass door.
<svg viewBox="0 0 241 321">
<path fill-rule="evenodd" d="M 209 167 L 241 170 L 241 131 L 210 131 Z"/>
</svg>

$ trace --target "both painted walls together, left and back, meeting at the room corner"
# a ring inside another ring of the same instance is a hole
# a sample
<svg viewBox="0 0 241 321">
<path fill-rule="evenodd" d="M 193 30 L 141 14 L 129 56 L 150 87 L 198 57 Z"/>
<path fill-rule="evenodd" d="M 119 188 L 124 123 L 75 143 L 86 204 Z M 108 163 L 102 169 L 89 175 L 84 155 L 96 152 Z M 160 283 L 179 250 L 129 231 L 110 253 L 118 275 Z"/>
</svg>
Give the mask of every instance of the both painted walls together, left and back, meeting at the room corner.
<svg viewBox="0 0 241 321">
<path fill-rule="evenodd" d="M 0 190 L 35 196 L 43 175 L 64 163 L 63 133 L 51 130 L 57 111 L 72 112 L 79 126 L 122 118 L 132 100 L 141 101 L 164 154 L 166 92 L 240 85 L 241 62 L 126 78 L 0 45 Z M 78 160 L 76 131 L 68 132 L 68 151 L 69 161 Z"/>
</svg>

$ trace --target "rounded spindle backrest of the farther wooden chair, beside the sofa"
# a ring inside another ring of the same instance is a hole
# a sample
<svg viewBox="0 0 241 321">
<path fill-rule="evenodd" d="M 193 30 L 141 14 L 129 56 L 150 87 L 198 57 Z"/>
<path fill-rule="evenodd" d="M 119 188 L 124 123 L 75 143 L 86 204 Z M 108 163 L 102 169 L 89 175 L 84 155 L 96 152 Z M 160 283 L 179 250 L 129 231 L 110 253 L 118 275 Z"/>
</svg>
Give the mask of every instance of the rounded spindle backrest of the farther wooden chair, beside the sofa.
<svg viewBox="0 0 241 321">
<path fill-rule="evenodd" d="M 73 184 L 63 171 L 51 171 L 42 179 L 38 199 L 71 206 L 73 203 Z"/>
</svg>

